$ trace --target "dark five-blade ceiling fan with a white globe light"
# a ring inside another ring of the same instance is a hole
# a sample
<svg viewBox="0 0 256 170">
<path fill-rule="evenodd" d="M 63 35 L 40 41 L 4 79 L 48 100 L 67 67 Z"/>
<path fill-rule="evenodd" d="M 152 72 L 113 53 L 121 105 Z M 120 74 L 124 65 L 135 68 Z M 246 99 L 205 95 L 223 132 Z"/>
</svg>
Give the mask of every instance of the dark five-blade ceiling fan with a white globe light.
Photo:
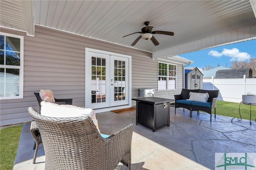
<svg viewBox="0 0 256 170">
<path fill-rule="evenodd" d="M 136 33 L 142 34 L 141 36 L 138 36 L 138 38 L 136 38 L 136 40 L 132 43 L 132 46 L 134 46 L 140 40 L 140 38 L 143 38 L 144 40 L 150 39 L 152 41 L 152 43 L 154 43 L 154 45 L 159 45 L 159 42 L 156 40 L 156 38 L 152 34 L 164 34 L 164 35 L 168 35 L 168 36 L 174 35 L 173 32 L 168 32 L 168 31 L 153 31 L 152 28 L 154 28 L 154 27 L 148 26 L 149 21 L 144 22 L 144 24 L 146 27 L 143 27 L 141 29 L 141 32 L 132 33 L 132 34 L 136 34 Z M 126 36 L 130 36 L 132 34 L 128 34 Z M 123 38 L 126 36 L 123 36 Z"/>
</svg>

